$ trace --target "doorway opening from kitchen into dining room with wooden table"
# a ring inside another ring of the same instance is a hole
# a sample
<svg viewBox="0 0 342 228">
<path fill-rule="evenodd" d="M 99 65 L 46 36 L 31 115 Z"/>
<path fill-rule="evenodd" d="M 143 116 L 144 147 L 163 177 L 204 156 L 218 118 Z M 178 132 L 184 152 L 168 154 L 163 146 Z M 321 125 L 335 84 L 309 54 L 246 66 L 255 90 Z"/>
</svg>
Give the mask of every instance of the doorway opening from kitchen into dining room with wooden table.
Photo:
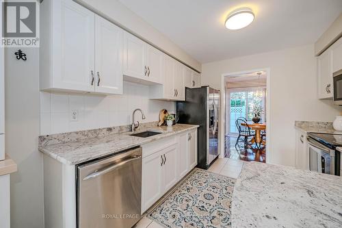
<svg viewBox="0 0 342 228">
<path fill-rule="evenodd" d="M 267 71 L 224 77 L 224 157 L 266 162 Z"/>
</svg>

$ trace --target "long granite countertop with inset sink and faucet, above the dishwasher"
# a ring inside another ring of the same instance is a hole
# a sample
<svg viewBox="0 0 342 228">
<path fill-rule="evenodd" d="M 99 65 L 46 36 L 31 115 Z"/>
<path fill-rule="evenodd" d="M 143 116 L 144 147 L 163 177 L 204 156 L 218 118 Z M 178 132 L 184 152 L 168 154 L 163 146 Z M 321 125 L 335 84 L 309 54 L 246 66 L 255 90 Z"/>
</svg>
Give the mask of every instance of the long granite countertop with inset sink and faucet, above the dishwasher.
<svg viewBox="0 0 342 228">
<path fill-rule="evenodd" d="M 118 153 L 125 149 L 137 147 L 148 142 L 153 142 L 161 138 L 166 138 L 179 134 L 183 131 L 196 129 L 198 125 L 183 125 L 176 124 L 172 127 L 148 127 L 137 130 L 140 131 L 152 130 L 160 131 L 162 134 L 150 136 L 148 138 L 140 138 L 130 136 L 133 132 L 124 132 L 119 134 L 109 134 L 106 136 L 99 136 L 94 138 L 85 138 L 82 140 L 75 140 L 70 142 L 62 142 L 57 144 L 48 144 L 40 146 L 39 151 L 55 158 L 64 164 L 74 165 L 89 160 L 103 157 L 112 153 Z"/>
</svg>

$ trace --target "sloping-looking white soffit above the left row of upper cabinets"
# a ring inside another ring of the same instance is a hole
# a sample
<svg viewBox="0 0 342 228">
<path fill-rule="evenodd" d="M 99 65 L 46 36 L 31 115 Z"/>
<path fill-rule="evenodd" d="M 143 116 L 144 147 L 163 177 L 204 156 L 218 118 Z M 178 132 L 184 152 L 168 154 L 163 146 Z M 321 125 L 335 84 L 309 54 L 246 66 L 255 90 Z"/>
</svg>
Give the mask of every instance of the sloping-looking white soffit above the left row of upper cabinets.
<svg viewBox="0 0 342 228">
<path fill-rule="evenodd" d="M 161 34 L 160 31 L 146 23 L 140 16 L 129 10 L 125 5 L 118 0 L 75 0 L 82 5 L 86 5 L 91 10 L 94 10 L 106 16 L 107 19 L 116 22 L 121 27 L 131 31 L 136 36 L 143 38 L 159 49 L 165 51 L 174 58 L 192 66 L 197 71 L 201 71 L 201 64 L 183 49 L 174 44 L 170 39 Z"/>
</svg>

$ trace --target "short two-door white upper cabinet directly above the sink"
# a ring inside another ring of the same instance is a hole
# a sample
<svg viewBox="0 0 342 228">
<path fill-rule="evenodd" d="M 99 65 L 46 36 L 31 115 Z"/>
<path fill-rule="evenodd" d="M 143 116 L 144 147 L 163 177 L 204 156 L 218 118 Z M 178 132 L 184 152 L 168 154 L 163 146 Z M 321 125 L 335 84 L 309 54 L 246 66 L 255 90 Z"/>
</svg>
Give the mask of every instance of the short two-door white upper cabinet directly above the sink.
<svg viewBox="0 0 342 228">
<path fill-rule="evenodd" d="M 161 84 L 163 53 L 124 32 L 124 75 L 127 81 Z"/>
</svg>

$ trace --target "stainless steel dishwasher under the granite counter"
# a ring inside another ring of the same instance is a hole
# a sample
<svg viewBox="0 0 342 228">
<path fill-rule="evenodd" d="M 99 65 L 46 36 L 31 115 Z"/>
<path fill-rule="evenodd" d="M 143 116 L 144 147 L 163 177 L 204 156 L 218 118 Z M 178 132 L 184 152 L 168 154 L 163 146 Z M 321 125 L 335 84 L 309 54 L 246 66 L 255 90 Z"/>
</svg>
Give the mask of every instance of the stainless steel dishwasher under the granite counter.
<svg viewBox="0 0 342 228">
<path fill-rule="evenodd" d="M 140 219 L 142 148 L 77 166 L 77 226 L 130 228 Z"/>
</svg>

